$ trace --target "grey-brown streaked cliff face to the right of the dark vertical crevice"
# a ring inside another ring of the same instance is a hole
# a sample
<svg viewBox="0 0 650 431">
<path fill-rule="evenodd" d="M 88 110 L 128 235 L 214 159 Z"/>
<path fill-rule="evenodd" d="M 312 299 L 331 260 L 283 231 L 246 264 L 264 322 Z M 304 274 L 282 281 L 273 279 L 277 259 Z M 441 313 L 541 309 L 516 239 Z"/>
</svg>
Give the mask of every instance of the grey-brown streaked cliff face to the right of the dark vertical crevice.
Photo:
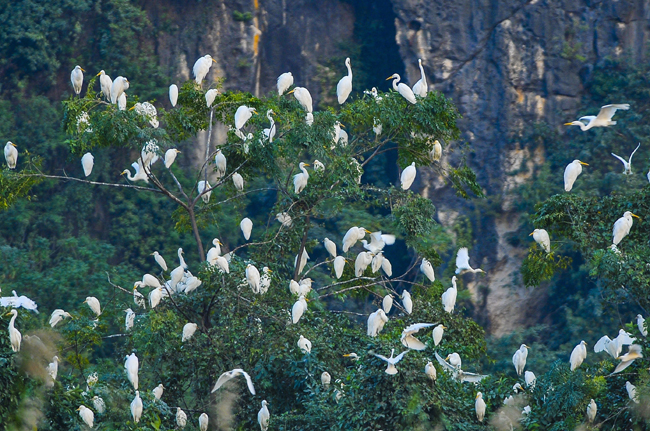
<svg viewBox="0 0 650 431">
<path fill-rule="evenodd" d="M 501 215 L 483 221 L 470 250 L 488 275 L 466 279 L 477 308 L 483 306 L 479 320 L 500 335 L 534 318 L 526 313 L 543 300 L 522 287 L 517 271 L 524 253 L 506 241 L 519 227 L 510 192 L 526 180 L 508 174 L 524 160 L 543 163 L 543 149 L 522 148 L 511 138 L 540 119 L 572 120 L 597 62 L 624 54 L 641 61 L 650 1 L 392 1 L 408 81 L 419 79 L 422 58 L 429 85 L 451 97 L 464 117 L 459 127 L 475 148 L 470 166 L 479 182 L 501 198 Z M 444 189 L 428 191 L 443 215 L 468 205 Z"/>
</svg>

